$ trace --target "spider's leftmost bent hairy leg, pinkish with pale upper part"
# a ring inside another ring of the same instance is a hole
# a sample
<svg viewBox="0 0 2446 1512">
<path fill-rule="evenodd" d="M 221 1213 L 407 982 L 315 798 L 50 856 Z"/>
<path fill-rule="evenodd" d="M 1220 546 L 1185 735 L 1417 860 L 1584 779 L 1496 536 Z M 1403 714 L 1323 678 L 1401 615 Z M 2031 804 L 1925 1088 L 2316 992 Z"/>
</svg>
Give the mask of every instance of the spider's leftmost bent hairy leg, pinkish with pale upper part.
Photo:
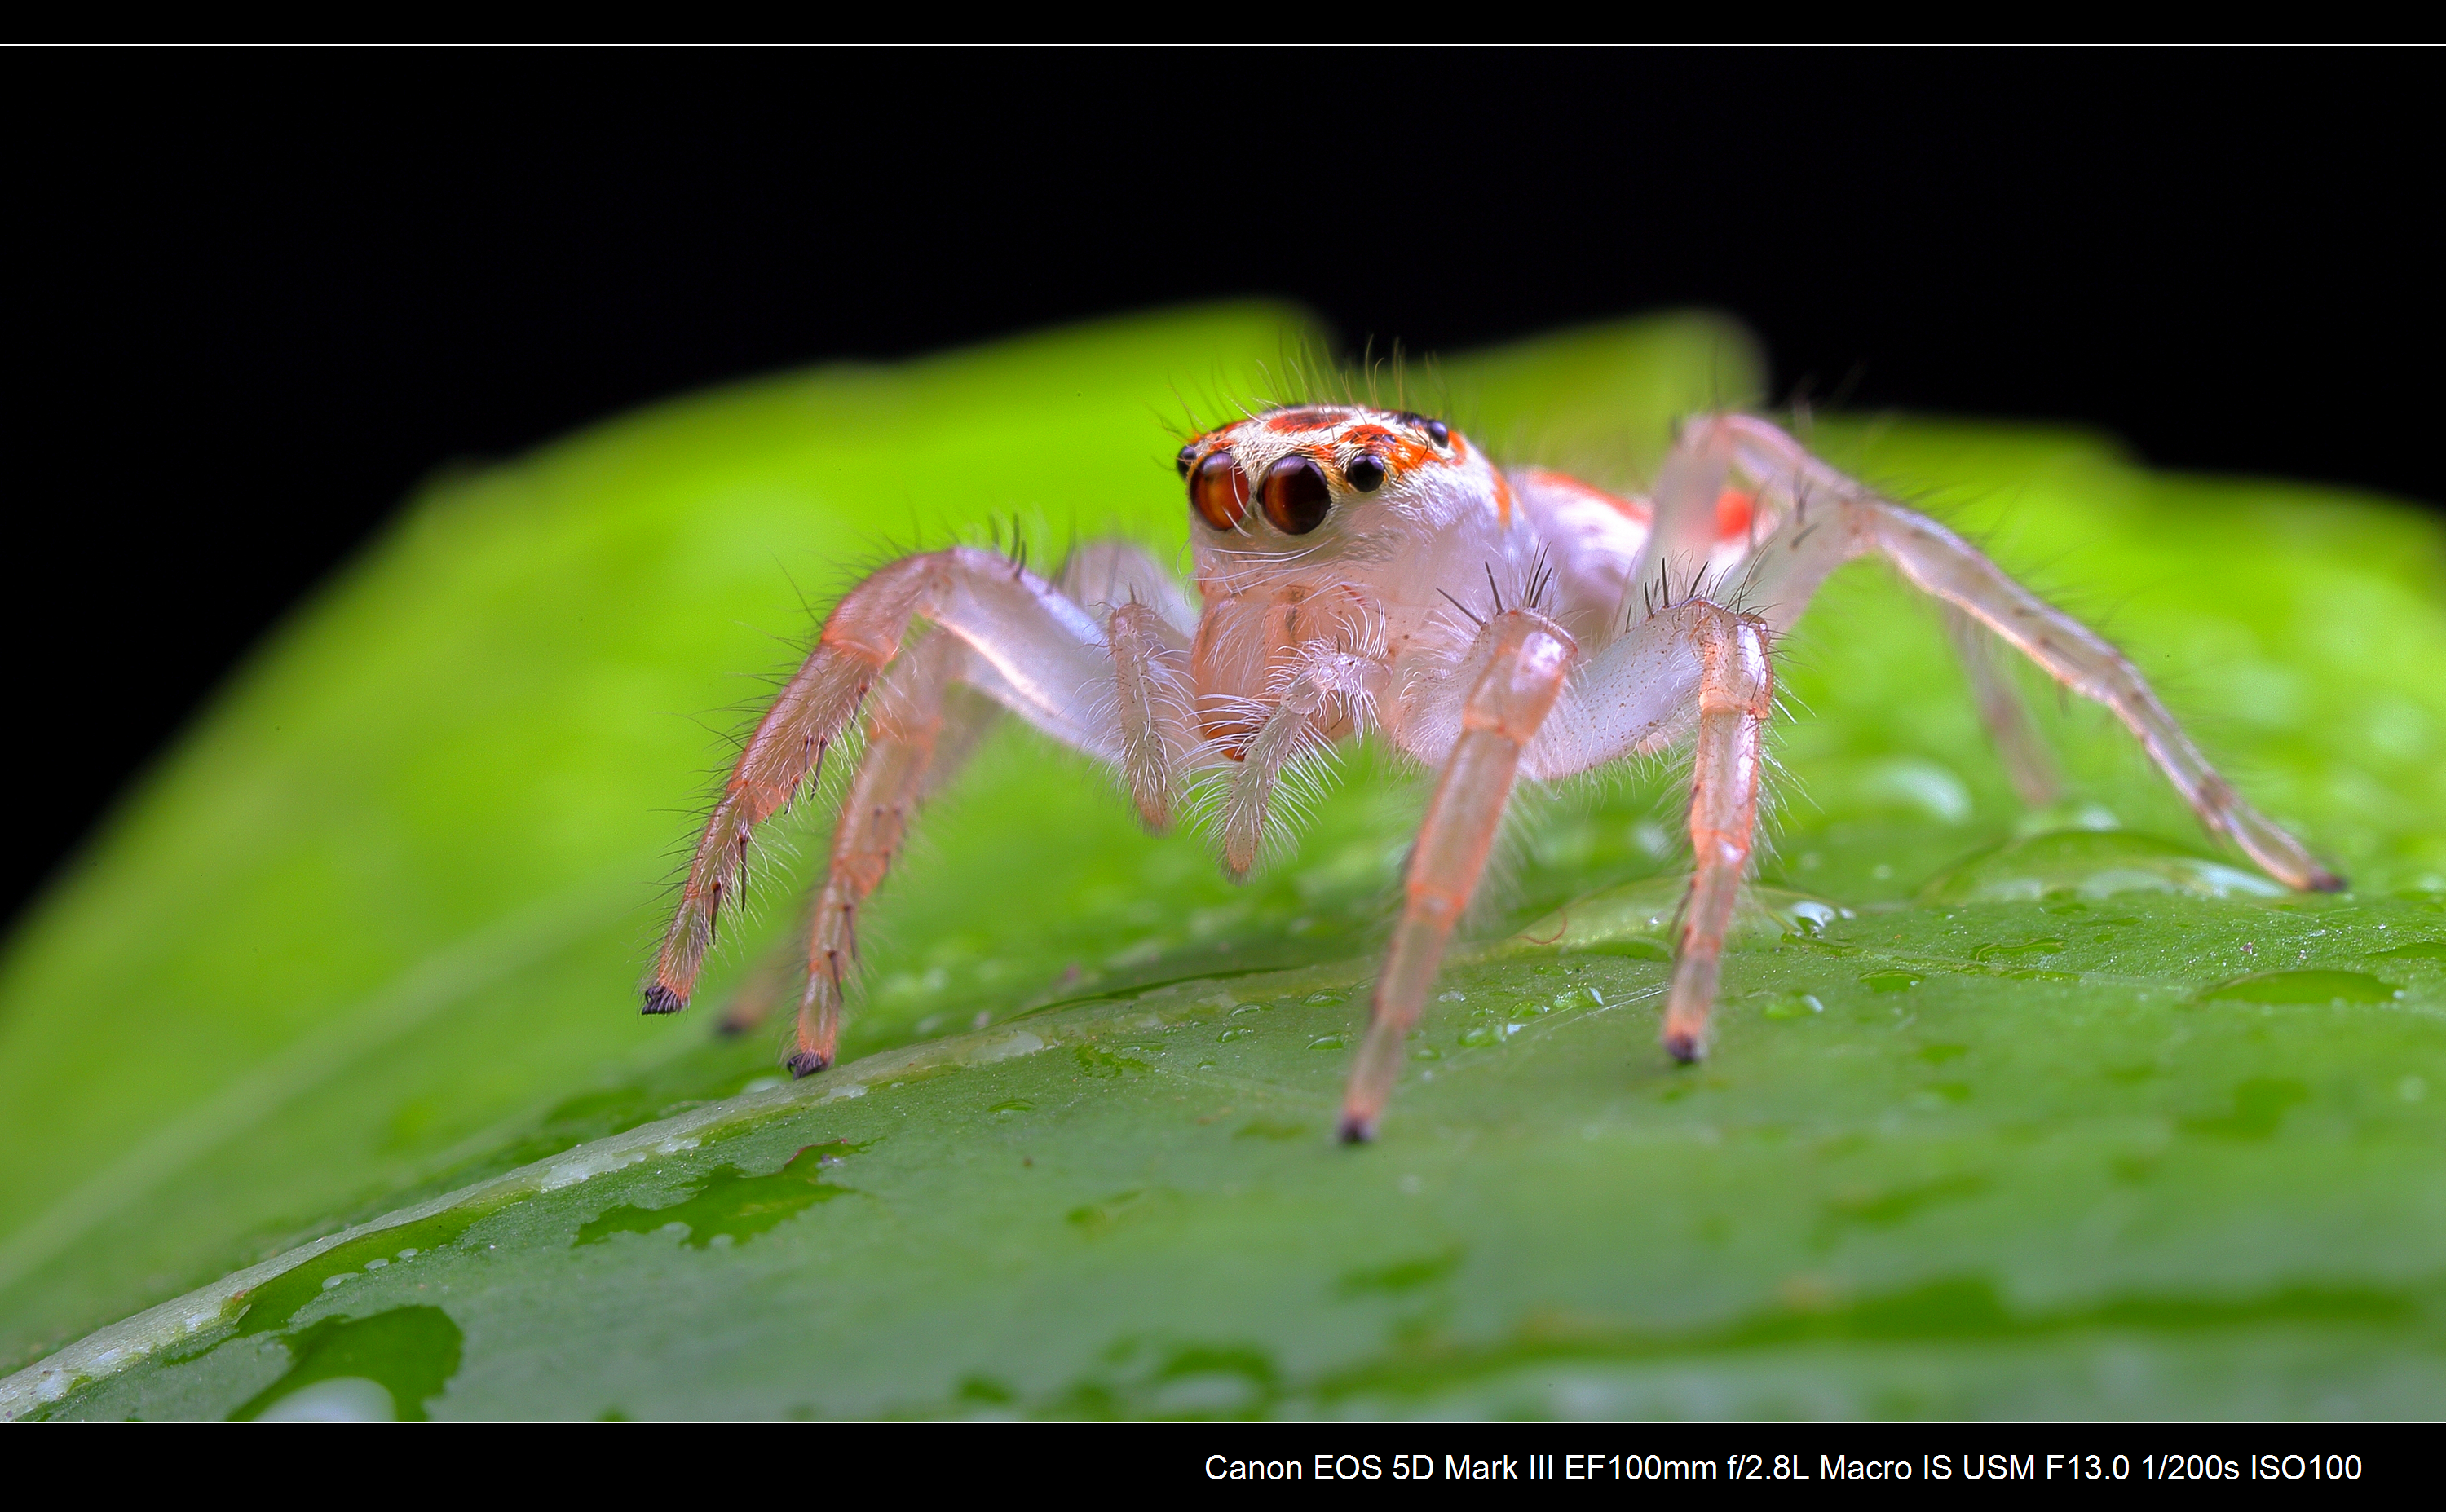
<svg viewBox="0 0 2446 1512">
<path fill-rule="evenodd" d="M 974 546 L 876 570 L 824 619 L 815 653 L 739 754 L 646 979 L 646 1013 L 687 1006 L 756 827 L 815 776 L 868 687 L 900 653 L 912 619 L 932 621 L 974 651 L 964 678 L 981 692 L 1069 746 L 1118 758 L 1113 656 L 1103 626 L 1074 599 Z"/>
</svg>

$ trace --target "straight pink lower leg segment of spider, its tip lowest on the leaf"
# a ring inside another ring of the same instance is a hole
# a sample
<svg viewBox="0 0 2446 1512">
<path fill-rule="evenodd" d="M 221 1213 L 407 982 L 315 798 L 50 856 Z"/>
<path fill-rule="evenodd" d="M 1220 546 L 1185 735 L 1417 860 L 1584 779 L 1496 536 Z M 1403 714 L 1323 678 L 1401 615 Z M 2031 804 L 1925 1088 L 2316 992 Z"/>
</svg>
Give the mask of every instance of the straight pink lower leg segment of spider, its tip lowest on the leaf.
<svg viewBox="0 0 2446 1512">
<path fill-rule="evenodd" d="M 1367 1042 L 1343 1094 L 1340 1138 L 1375 1138 L 1377 1118 L 1402 1074 L 1409 1040 L 1426 993 L 1443 964 L 1453 925 L 1477 891 L 1477 876 L 1495 849 L 1521 749 L 1536 736 L 1563 690 L 1575 653 L 1551 619 L 1529 612 L 1497 614 L 1480 636 L 1485 670 L 1460 710 L 1460 739 L 1443 761 L 1436 795 L 1426 805 L 1419 844 L 1409 856 L 1402 922 L 1394 925 L 1384 969 L 1367 1013 Z"/>
</svg>

